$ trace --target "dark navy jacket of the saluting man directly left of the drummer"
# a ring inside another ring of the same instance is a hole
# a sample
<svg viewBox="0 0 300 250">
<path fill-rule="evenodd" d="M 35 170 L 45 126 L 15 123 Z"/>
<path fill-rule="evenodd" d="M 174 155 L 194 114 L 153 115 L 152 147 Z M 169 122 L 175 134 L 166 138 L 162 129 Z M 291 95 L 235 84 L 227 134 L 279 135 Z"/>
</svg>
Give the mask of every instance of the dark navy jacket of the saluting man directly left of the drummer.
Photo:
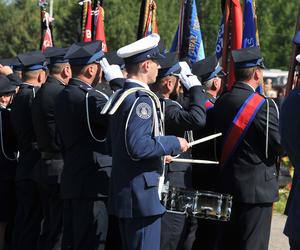
<svg viewBox="0 0 300 250">
<path fill-rule="evenodd" d="M 100 115 L 107 101 L 103 95 L 73 78 L 56 100 L 55 120 L 65 153 L 61 178 L 64 199 L 95 199 L 108 194 L 111 159 L 106 155 L 105 141 L 94 140 L 88 129 L 87 93 L 92 133 L 97 139 L 105 140 L 107 119 Z"/>
</svg>

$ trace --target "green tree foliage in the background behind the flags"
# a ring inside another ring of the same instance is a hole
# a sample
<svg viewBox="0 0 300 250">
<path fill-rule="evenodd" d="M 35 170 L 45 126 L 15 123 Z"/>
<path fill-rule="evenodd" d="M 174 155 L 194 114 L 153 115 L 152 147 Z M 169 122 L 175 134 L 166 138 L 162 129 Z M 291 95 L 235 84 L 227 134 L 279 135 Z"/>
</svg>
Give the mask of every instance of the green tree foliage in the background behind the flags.
<svg viewBox="0 0 300 250">
<path fill-rule="evenodd" d="M 79 0 L 54 0 L 53 35 L 55 45 L 66 47 L 80 35 Z M 105 32 L 110 50 L 136 40 L 139 0 L 104 0 Z M 170 48 L 179 20 L 178 0 L 156 0 L 158 30 Z M 196 0 L 206 55 L 214 53 L 220 0 Z M 298 0 L 256 0 L 260 46 L 269 68 L 287 69 L 295 32 Z M 39 49 L 40 9 L 38 0 L 0 0 L 0 56 Z"/>
</svg>

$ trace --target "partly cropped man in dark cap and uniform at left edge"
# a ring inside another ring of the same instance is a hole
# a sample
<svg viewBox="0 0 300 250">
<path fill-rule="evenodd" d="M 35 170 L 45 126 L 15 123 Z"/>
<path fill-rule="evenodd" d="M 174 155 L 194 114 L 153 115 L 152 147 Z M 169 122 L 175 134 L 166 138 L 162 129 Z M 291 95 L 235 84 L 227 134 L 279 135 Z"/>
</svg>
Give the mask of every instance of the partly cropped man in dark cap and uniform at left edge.
<svg viewBox="0 0 300 250">
<path fill-rule="evenodd" d="M 9 248 L 15 212 L 17 145 L 10 122 L 10 103 L 16 92 L 6 76 L 0 75 L 0 249 Z M 8 242 L 5 240 L 8 236 Z"/>
</svg>

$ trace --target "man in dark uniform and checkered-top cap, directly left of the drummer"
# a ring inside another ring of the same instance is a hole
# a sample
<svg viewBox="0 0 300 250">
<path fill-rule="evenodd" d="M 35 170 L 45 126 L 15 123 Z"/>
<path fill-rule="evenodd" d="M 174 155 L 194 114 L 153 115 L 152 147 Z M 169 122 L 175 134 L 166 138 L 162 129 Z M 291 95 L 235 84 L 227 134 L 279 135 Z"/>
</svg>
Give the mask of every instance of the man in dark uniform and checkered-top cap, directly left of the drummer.
<svg viewBox="0 0 300 250">
<path fill-rule="evenodd" d="M 62 249 L 105 247 L 111 158 L 106 155 L 107 119 L 100 112 L 107 97 L 93 88 L 101 78 L 103 55 L 100 41 L 74 43 L 65 55 L 73 78 L 55 107 L 64 150 Z"/>
</svg>

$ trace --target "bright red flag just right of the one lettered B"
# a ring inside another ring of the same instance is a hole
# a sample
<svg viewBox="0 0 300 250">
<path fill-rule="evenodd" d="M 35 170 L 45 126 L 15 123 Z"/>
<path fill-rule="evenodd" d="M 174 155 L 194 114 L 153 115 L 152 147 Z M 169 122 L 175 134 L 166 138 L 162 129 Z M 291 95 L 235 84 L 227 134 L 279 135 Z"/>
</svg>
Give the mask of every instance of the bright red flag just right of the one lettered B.
<svg viewBox="0 0 300 250">
<path fill-rule="evenodd" d="M 95 17 L 95 40 L 102 41 L 102 50 L 107 52 L 106 38 L 104 32 L 104 9 L 101 7 L 98 1 L 97 7 L 94 11 Z"/>
</svg>

